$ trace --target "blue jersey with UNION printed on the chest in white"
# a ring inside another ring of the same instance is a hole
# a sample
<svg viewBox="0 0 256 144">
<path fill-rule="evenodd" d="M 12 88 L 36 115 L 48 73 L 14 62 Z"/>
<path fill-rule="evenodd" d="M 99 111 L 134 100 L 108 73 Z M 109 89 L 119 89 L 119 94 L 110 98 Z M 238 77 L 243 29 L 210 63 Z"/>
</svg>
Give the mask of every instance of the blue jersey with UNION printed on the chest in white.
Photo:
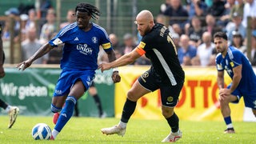
<svg viewBox="0 0 256 144">
<path fill-rule="evenodd" d="M 84 31 L 78 28 L 77 22 L 74 22 L 64 27 L 50 40 L 51 46 L 65 44 L 61 60 L 62 70 L 97 70 L 99 46 L 105 51 L 113 49 L 106 30 L 92 24 L 89 31 Z"/>
</svg>

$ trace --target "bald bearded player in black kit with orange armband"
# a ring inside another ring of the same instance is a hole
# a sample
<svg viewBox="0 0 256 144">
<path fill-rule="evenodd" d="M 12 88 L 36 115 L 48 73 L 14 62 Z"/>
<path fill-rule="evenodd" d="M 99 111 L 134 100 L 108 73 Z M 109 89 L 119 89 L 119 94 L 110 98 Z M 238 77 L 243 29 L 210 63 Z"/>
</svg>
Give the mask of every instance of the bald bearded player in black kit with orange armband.
<svg viewBox="0 0 256 144">
<path fill-rule="evenodd" d="M 152 65 L 150 70 L 142 74 L 127 93 L 122 118 L 118 125 L 103 128 L 103 134 L 124 135 L 126 124 L 134 113 L 138 98 L 160 89 L 162 100 L 162 115 L 166 118 L 171 131 L 162 142 L 176 142 L 182 138 L 179 130 L 179 119 L 174 113 L 178 97 L 182 90 L 185 74 L 178 62 L 177 49 L 166 26 L 154 24 L 153 15 L 149 10 L 142 10 L 136 17 L 135 24 L 142 35 L 142 41 L 129 54 L 123 55 L 114 62 L 102 63 L 98 69 L 109 70 L 134 62 L 143 54 L 149 58 Z"/>
</svg>

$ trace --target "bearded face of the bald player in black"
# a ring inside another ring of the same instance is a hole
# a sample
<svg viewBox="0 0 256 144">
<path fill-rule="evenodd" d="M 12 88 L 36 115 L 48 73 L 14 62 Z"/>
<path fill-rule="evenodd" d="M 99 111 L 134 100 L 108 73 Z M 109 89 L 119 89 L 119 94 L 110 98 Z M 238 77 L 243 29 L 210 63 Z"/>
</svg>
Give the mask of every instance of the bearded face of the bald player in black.
<svg viewBox="0 0 256 144">
<path fill-rule="evenodd" d="M 137 25 L 138 33 L 143 37 L 150 32 L 150 22 L 146 19 L 136 19 L 135 24 Z"/>
</svg>

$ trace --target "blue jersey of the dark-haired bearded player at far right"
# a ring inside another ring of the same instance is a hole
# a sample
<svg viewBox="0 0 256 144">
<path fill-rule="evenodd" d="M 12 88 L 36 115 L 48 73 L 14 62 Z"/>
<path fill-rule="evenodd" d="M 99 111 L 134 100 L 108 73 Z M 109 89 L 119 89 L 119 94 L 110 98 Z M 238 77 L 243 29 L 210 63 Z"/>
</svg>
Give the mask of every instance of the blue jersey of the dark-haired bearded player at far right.
<svg viewBox="0 0 256 144">
<path fill-rule="evenodd" d="M 217 70 L 226 70 L 231 79 L 234 76 L 233 68 L 242 65 L 242 79 L 239 82 L 237 90 L 241 91 L 243 95 L 256 94 L 256 76 L 254 70 L 248 58 L 240 50 L 234 46 L 229 46 L 225 58 L 222 58 L 222 54 L 216 56 L 216 64 Z"/>
</svg>

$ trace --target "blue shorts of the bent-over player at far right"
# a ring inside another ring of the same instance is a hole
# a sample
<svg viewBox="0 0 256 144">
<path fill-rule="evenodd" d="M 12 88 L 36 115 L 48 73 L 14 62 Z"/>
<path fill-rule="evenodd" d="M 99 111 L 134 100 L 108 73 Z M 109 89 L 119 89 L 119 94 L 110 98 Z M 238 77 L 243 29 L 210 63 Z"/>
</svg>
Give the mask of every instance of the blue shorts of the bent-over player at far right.
<svg viewBox="0 0 256 144">
<path fill-rule="evenodd" d="M 227 88 L 230 89 L 230 86 L 231 86 L 231 84 L 229 86 L 227 86 Z M 253 91 L 245 92 L 245 91 L 236 89 L 231 94 L 238 97 L 238 100 L 234 101 L 232 103 L 238 103 L 240 98 L 243 97 L 245 106 L 256 110 L 256 92 L 253 92 Z"/>
</svg>

